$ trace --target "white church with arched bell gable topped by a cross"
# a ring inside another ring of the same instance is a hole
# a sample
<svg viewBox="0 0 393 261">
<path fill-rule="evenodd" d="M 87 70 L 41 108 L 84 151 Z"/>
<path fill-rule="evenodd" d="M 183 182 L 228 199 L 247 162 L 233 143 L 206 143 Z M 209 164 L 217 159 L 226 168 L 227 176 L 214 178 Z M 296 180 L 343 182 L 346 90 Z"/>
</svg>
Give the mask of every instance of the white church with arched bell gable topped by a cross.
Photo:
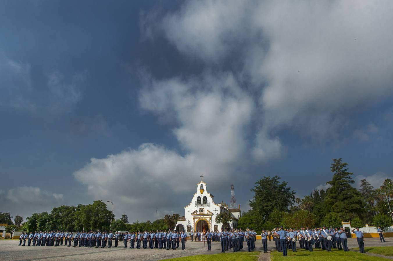
<svg viewBox="0 0 393 261">
<path fill-rule="evenodd" d="M 203 176 L 202 176 L 203 178 Z M 223 225 L 222 223 L 216 223 L 215 217 L 221 212 L 231 214 L 233 220 L 230 224 Z M 194 194 L 191 202 L 184 207 L 184 216 L 180 217 L 180 220 L 176 223 L 177 231 L 191 232 L 193 230 L 203 231 L 205 230 L 218 230 L 221 228 L 237 228 L 237 221 L 241 217 L 240 205 L 239 208 L 228 208 L 228 204 L 215 203 L 214 196 L 207 190 L 207 183 L 203 180 L 196 185 L 196 193 Z"/>
</svg>

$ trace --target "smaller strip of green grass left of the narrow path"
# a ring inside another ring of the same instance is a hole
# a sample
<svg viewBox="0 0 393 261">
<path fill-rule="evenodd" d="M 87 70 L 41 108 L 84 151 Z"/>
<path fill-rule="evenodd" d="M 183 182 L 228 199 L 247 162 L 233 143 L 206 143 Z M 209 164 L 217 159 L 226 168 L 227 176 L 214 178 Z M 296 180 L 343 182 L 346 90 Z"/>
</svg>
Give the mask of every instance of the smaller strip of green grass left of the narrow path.
<svg viewBox="0 0 393 261">
<path fill-rule="evenodd" d="M 256 261 L 258 260 L 260 252 L 253 251 L 253 252 L 225 252 L 220 254 L 213 254 L 213 255 L 197 255 L 197 256 L 185 256 L 185 257 L 177 257 L 165 260 L 171 261 L 211 261 L 211 260 L 222 260 L 222 261 L 238 261 L 238 260 L 245 260 L 245 261 Z"/>
</svg>

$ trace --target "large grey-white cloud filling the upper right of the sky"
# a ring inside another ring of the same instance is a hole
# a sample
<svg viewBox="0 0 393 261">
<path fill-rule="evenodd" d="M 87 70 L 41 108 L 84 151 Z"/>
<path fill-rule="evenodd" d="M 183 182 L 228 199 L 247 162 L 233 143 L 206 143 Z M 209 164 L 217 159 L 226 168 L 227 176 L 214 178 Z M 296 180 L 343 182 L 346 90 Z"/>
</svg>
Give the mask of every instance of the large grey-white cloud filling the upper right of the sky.
<svg viewBox="0 0 393 261">
<path fill-rule="evenodd" d="M 157 27 L 207 66 L 243 54 L 233 56 L 244 59 L 238 72 L 261 91 L 254 155 L 269 147 L 279 155 L 272 130 L 289 125 L 334 140 L 359 105 L 392 95 L 392 7 L 391 1 L 188 1 Z"/>
</svg>

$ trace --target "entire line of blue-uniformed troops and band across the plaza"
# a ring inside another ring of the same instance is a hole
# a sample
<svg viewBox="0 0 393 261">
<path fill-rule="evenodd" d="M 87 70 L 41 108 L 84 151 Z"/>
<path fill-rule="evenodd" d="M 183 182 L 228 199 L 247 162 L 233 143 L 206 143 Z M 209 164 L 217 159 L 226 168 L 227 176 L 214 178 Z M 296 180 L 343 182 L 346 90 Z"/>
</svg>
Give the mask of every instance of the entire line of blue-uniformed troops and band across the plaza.
<svg viewBox="0 0 393 261">
<path fill-rule="evenodd" d="M 380 230 L 380 228 L 378 228 Z M 364 235 L 359 228 L 354 228 L 352 232 L 356 235 L 359 250 L 364 253 Z M 378 231 L 380 239 L 385 242 L 383 231 Z M 190 233 L 191 241 L 206 241 L 208 251 L 211 250 L 211 241 L 218 241 L 221 245 L 221 252 L 233 250 L 237 252 L 243 249 L 243 243 L 247 243 L 247 250 L 251 252 L 255 249 L 255 241 L 257 233 L 252 229 L 242 231 L 241 229 L 222 229 L 221 232 L 192 232 Z M 349 251 L 347 246 L 347 232 L 343 227 L 330 227 L 327 229 L 325 226 L 321 228 L 311 229 L 309 227 L 301 227 L 301 229 L 288 229 L 277 227 L 272 232 L 262 230 L 261 239 L 263 252 L 267 252 L 267 240 L 270 241 L 270 236 L 273 236 L 275 248 L 278 252 L 282 252 L 283 256 L 287 255 L 287 250 L 296 252 L 296 242 L 299 242 L 299 247 L 305 250 L 313 251 L 313 248 L 321 248 L 330 252 L 332 248 Z M 61 232 L 61 231 L 39 231 L 22 233 L 19 238 L 19 245 L 27 246 L 71 246 L 72 247 L 112 247 L 112 241 L 115 247 L 118 246 L 119 241 L 123 241 L 124 248 L 143 248 L 143 249 L 172 249 L 179 248 L 181 243 L 182 250 L 185 250 L 187 242 L 187 234 L 183 231 L 176 230 L 156 230 L 144 232 L 125 232 L 125 233 L 112 233 L 112 231 L 76 231 Z"/>
</svg>

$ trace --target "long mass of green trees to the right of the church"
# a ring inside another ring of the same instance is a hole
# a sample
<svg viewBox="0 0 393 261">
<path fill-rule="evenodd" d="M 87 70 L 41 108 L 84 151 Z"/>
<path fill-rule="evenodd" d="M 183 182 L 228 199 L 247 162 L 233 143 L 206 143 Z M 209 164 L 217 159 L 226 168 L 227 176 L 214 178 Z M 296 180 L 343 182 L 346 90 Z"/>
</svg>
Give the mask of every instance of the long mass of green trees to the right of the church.
<svg viewBox="0 0 393 261">
<path fill-rule="evenodd" d="M 238 227 L 252 228 L 260 232 L 263 228 L 272 230 L 284 227 L 299 228 L 301 226 L 337 227 L 342 221 L 351 220 L 352 227 L 369 225 L 387 228 L 391 225 L 389 207 L 385 198 L 391 204 L 393 185 L 391 179 L 385 179 L 380 188 L 373 186 L 363 179 L 360 189 L 352 187 L 353 173 L 349 172 L 348 164 L 342 159 L 332 159 L 333 173 L 327 190 L 316 190 L 303 199 L 296 198 L 294 190 L 288 187 L 286 181 L 280 182 L 278 176 L 259 179 L 252 189 L 253 199 L 250 200 L 250 210 L 243 212 Z M 304 186 L 307 189 L 307 185 Z M 304 192 L 304 191 L 302 191 Z"/>
</svg>

